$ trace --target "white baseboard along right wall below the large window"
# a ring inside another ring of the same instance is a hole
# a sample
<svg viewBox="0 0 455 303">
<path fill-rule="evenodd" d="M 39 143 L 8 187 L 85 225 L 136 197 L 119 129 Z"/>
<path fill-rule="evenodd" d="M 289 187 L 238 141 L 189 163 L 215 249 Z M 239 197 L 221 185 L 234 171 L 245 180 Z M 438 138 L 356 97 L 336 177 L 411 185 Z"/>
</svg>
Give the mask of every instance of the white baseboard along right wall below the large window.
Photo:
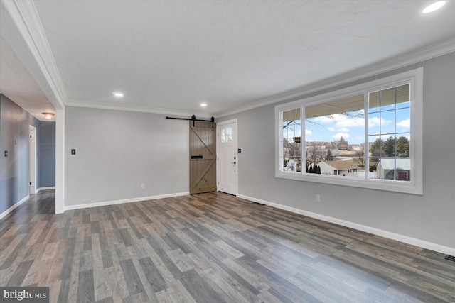
<svg viewBox="0 0 455 303">
<path fill-rule="evenodd" d="M 344 220 L 341 220 L 341 219 L 333 218 L 331 216 L 324 216 L 324 215 L 321 215 L 321 214 L 313 213 L 311 211 L 304 211 L 302 209 L 296 209 L 294 207 L 290 207 L 290 206 L 286 206 L 286 205 L 282 205 L 282 204 L 277 204 L 277 203 L 274 203 L 274 202 L 269 202 L 269 201 L 265 201 L 265 200 L 262 200 L 262 199 L 257 199 L 257 198 L 254 198 L 254 197 L 248 197 L 248 196 L 244 196 L 242 194 L 237 194 L 237 197 L 242 198 L 242 199 L 246 199 L 246 200 L 250 200 L 252 202 L 262 203 L 262 204 L 265 204 L 265 205 L 268 205 L 268 206 L 275 207 L 277 209 L 283 209 L 283 210 L 286 210 L 286 211 L 291 211 L 291 212 L 293 212 L 295 214 L 301 214 L 301 215 L 304 215 L 304 216 L 309 216 L 309 217 L 314 218 L 314 219 L 319 219 L 319 220 L 330 222 L 330 223 L 333 223 L 333 224 L 338 224 L 338 225 L 341 225 L 341 226 L 346 226 L 346 227 L 349 227 L 349 228 L 357 229 L 358 231 L 365 231 L 366 233 L 372 233 L 373 235 L 382 236 L 384 238 L 389 238 L 389 239 L 392 239 L 392 240 L 396 240 L 396 241 L 400 241 L 400 242 L 403 242 L 403 243 L 411 244 L 413 246 L 419 246 L 419 247 L 422 247 L 422 248 L 427 248 L 429 250 L 437 251 L 438 253 L 444 253 L 446 255 L 455 255 L 455 248 L 451 248 L 451 247 L 448 247 L 448 246 L 441 246 L 441 245 L 439 245 L 437 243 L 432 243 L 432 242 L 423 241 L 423 240 L 420 240 L 420 239 L 417 239 L 417 238 L 411 238 L 411 237 L 408 237 L 408 236 L 403 236 L 403 235 L 400 235 L 399 233 L 391 233 L 390 231 L 383 231 L 382 229 L 379 229 L 379 228 L 365 226 L 365 225 L 353 223 L 353 222 L 350 222 L 350 221 L 344 221 Z"/>
</svg>

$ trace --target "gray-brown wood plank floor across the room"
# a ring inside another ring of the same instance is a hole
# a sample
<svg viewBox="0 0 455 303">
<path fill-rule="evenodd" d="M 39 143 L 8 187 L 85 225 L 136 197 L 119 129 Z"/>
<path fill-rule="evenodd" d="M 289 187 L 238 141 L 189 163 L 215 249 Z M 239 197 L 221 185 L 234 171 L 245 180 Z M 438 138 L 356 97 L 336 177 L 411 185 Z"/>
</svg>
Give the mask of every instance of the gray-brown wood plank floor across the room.
<svg viewBox="0 0 455 303">
<path fill-rule="evenodd" d="M 0 221 L 0 286 L 50 302 L 455 302 L 430 250 L 223 193 L 65 211 L 53 191 Z"/>
</svg>

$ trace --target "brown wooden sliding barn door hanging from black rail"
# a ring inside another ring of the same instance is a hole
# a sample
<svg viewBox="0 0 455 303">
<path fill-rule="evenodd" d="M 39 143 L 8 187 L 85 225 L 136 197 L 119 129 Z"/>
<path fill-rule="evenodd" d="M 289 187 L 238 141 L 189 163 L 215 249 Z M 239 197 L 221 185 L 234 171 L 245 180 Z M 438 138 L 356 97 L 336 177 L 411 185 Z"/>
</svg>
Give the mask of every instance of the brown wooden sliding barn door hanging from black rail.
<svg viewBox="0 0 455 303">
<path fill-rule="evenodd" d="M 215 123 L 190 121 L 190 194 L 216 191 L 215 133 Z"/>
</svg>

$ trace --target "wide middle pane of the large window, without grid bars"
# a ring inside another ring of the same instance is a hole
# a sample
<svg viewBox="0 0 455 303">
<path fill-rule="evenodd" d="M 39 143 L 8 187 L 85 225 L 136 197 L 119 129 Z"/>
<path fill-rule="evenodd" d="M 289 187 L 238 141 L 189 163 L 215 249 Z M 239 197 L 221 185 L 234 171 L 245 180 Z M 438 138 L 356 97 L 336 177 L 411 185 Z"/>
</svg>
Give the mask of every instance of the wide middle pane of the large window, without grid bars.
<svg viewBox="0 0 455 303">
<path fill-rule="evenodd" d="M 364 173 L 364 95 L 305 107 L 306 173 L 360 177 Z"/>
</svg>

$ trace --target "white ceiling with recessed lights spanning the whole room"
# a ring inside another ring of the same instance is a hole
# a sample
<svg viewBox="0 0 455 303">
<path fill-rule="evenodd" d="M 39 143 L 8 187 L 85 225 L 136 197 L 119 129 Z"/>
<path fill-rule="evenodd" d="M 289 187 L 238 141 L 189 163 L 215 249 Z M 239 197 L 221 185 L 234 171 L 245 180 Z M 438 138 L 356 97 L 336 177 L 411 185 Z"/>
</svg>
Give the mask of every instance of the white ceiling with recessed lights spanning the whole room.
<svg viewBox="0 0 455 303">
<path fill-rule="evenodd" d="M 455 37 L 453 1 L 1 1 L 19 29 L 1 28 L 0 91 L 36 116 L 223 116 Z"/>
</svg>

